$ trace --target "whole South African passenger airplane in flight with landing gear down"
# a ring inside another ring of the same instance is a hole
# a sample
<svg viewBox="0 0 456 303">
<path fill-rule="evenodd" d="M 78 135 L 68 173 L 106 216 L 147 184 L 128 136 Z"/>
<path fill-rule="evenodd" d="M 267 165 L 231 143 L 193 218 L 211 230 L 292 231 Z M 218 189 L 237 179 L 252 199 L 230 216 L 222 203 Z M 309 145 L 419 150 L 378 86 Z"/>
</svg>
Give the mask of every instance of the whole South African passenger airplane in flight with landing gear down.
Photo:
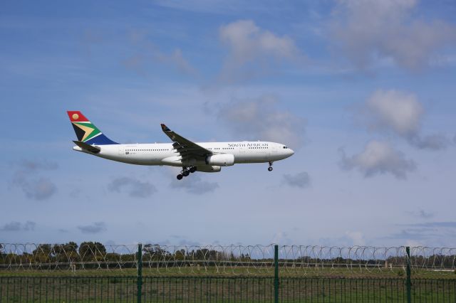
<svg viewBox="0 0 456 303">
<path fill-rule="evenodd" d="M 178 180 L 195 171 L 214 173 L 222 166 L 247 163 L 269 163 L 272 171 L 274 161 L 286 159 L 294 151 L 275 142 L 192 142 L 161 124 L 162 131 L 172 143 L 119 144 L 109 139 L 81 112 L 67 111 L 78 140 L 75 151 L 113 161 L 138 165 L 167 165 L 182 167 Z"/>
</svg>

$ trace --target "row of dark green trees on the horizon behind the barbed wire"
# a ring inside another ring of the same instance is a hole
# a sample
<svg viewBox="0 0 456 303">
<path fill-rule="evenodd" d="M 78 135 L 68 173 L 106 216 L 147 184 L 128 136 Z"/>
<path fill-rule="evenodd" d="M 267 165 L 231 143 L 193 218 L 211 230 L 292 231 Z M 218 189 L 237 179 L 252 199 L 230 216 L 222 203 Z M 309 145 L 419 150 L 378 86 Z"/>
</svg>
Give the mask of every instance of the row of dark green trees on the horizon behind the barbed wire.
<svg viewBox="0 0 456 303">
<path fill-rule="evenodd" d="M 108 252 L 105 245 L 99 242 L 86 241 L 78 245 L 76 242 L 65 244 L 39 244 L 31 252 L 11 252 L 6 251 L 5 245 L 0 243 L 0 265 L 3 264 L 36 264 L 36 263 L 84 263 L 84 262 L 123 262 L 124 265 L 134 265 L 138 260 L 138 252 Z M 235 256 L 232 252 L 221 252 L 219 250 L 209 250 L 199 248 L 195 250 L 175 250 L 167 251 L 160 245 L 146 244 L 142 246 L 142 262 L 161 262 L 161 261 L 232 261 L 232 262 L 272 262 L 271 258 L 252 258 L 248 254 Z M 130 262 L 130 263 L 129 263 Z M 405 265 L 405 256 L 388 257 L 385 259 L 351 259 L 344 257 L 316 258 L 298 257 L 296 259 L 280 259 L 282 265 L 286 262 L 300 262 L 308 264 L 349 264 L 349 265 Z M 456 265 L 456 255 L 429 255 L 412 256 L 410 262 L 414 267 L 444 267 L 453 268 Z"/>
</svg>

